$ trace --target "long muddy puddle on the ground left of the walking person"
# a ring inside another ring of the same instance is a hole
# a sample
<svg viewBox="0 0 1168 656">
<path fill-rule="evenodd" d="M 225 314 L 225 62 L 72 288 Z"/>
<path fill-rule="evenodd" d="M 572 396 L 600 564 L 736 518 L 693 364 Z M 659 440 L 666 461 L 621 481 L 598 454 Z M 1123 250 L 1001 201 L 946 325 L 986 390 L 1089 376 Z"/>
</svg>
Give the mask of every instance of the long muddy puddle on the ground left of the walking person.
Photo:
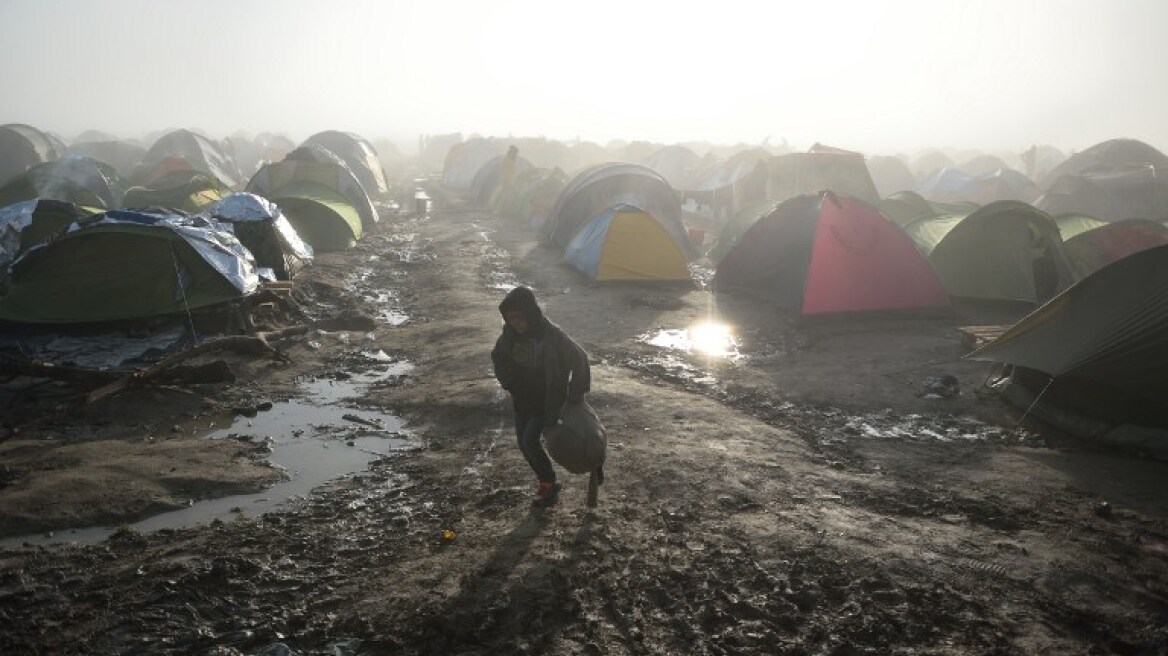
<svg viewBox="0 0 1168 656">
<path fill-rule="evenodd" d="M 220 417 L 199 420 L 207 439 L 237 439 L 265 442 L 269 461 L 288 479 L 262 491 L 199 501 L 189 508 L 164 512 L 131 525 L 137 531 L 176 529 L 214 519 L 232 521 L 239 515 L 258 516 L 287 502 L 303 498 L 324 483 L 364 470 L 369 463 L 395 453 L 417 448 L 417 441 L 397 416 L 378 410 L 340 405 L 362 393 L 362 388 L 403 376 L 413 369 L 409 362 L 395 362 L 343 381 L 315 378 L 301 383 L 305 399 L 272 404 L 255 417 Z M 0 547 L 23 544 L 96 543 L 116 529 L 95 526 L 57 531 L 54 535 L 18 536 L 0 539 Z"/>
</svg>

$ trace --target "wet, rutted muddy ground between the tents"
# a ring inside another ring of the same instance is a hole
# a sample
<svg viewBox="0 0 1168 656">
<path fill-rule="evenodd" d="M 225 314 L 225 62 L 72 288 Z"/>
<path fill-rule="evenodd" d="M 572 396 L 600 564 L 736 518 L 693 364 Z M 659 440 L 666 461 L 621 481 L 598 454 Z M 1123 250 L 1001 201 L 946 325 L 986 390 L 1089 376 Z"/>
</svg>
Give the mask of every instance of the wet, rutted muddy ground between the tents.
<svg viewBox="0 0 1168 656">
<path fill-rule="evenodd" d="M 596 509 L 566 474 L 557 507 L 530 505 L 488 357 L 516 282 L 590 354 Z M 2 535 L 124 526 L 0 550 L 0 654 L 1168 654 L 1168 466 L 1020 425 L 982 390 L 958 327 L 1016 310 L 809 323 L 590 285 L 447 198 L 321 256 L 293 298 L 303 315 L 257 321 L 315 328 L 283 360 L 217 354 L 235 383 L 11 399 Z M 737 356 L 648 342 L 707 319 Z M 273 482 L 262 441 L 197 426 L 366 372 L 370 349 L 413 364 L 361 404 L 416 448 L 278 511 L 130 526 Z M 945 375 L 960 393 L 923 393 Z"/>
</svg>

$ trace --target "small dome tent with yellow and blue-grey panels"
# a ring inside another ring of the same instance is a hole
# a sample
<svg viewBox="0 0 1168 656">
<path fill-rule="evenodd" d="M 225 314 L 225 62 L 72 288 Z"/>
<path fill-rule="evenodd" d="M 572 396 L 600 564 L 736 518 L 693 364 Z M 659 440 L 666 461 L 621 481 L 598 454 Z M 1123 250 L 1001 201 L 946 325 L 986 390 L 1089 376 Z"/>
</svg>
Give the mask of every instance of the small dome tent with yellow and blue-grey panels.
<svg viewBox="0 0 1168 656">
<path fill-rule="evenodd" d="M 677 230 L 625 203 L 597 212 L 564 249 L 564 261 L 592 280 L 688 280 Z"/>
</svg>

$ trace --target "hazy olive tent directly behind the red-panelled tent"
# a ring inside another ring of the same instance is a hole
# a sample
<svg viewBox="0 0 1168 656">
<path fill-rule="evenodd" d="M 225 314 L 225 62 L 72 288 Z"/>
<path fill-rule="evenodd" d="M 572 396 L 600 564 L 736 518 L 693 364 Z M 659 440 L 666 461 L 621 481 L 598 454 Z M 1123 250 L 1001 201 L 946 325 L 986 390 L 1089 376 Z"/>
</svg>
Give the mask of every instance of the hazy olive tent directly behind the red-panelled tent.
<svg viewBox="0 0 1168 656">
<path fill-rule="evenodd" d="M 819 144 L 806 153 L 776 155 L 767 162 L 766 197 L 785 201 L 801 194 L 829 189 L 869 204 L 880 193 L 868 173 L 864 156 Z"/>
</svg>

